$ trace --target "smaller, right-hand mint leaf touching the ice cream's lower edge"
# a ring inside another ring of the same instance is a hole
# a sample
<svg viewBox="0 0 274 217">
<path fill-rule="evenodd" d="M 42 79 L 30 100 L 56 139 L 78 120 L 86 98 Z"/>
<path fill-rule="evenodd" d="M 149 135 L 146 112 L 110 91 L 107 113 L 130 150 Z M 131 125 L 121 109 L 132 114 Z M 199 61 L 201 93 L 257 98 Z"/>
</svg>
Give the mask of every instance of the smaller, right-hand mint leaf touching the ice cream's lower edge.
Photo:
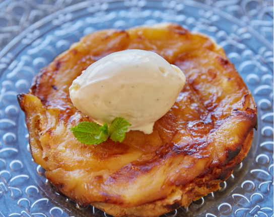
<svg viewBox="0 0 274 217">
<path fill-rule="evenodd" d="M 114 142 L 122 142 L 129 126 L 131 125 L 124 118 L 115 118 L 108 128 L 110 139 Z"/>
</svg>

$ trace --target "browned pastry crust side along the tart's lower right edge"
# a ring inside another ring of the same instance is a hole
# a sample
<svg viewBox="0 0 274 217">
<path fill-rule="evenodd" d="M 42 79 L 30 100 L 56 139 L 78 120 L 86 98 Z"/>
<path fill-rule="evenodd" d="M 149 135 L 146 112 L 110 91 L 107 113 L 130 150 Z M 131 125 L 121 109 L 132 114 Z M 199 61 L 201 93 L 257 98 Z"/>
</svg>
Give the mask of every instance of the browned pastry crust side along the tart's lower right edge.
<svg viewBox="0 0 274 217">
<path fill-rule="evenodd" d="M 192 200 L 197 200 L 208 193 L 220 189 L 220 182 L 226 180 L 232 174 L 235 166 L 238 165 L 246 156 L 246 153 L 250 149 L 252 139 L 253 131 L 249 133 L 240 153 L 226 166 L 222 168 L 215 167 L 210 172 L 194 178 L 191 182 L 188 182 L 183 186 L 176 186 L 175 189 L 162 200 L 156 200 L 151 203 L 129 208 L 122 208 L 118 205 L 104 202 L 93 202 L 91 205 L 102 209 L 113 216 L 121 217 L 134 215 L 156 217 L 162 213 L 172 211 L 182 205 L 187 207 Z"/>
</svg>

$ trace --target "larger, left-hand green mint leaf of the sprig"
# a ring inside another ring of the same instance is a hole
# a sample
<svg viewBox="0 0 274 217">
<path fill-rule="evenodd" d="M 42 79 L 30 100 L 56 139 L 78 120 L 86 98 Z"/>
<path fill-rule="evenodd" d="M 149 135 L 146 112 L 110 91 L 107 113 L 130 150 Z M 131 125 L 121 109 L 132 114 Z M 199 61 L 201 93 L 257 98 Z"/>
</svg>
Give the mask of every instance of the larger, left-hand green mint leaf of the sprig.
<svg viewBox="0 0 274 217">
<path fill-rule="evenodd" d="M 107 128 L 107 124 L 100 126 L 94 122 L 81 122 L 70 130 L 79 142 L 94 145 L 106 141 L 109 137 L 108 129 L 105 128 Z"/>
</svg>

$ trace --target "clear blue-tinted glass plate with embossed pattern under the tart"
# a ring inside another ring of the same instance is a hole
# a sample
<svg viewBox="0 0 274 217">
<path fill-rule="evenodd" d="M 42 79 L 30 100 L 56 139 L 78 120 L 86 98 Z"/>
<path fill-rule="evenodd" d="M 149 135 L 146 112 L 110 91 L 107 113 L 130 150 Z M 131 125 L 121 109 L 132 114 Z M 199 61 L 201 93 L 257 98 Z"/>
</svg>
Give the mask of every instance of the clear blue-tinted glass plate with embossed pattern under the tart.
<svg viewBox="0 0 274 217">
<path fill-rule="evenodd" d="M 166 216 L 273 216 L 273 46 L 243 19 L 218 7 L 194 1 L 132 0 L 88 1 L 67 7 L 30 26 L 0 51 L 1 217 L 108 216 L 54 192 L 44 169 L 32 160 L 25 116 L 16 95 L 27 92 L 39 69 L 82 36 L 105 28 L 159 22 L 179 23 L 214 38 L 224 47 L 258 106 L 258 131 L 254 131 L 251 150 L 222 183 L 222 189 Z"/>
</svg>

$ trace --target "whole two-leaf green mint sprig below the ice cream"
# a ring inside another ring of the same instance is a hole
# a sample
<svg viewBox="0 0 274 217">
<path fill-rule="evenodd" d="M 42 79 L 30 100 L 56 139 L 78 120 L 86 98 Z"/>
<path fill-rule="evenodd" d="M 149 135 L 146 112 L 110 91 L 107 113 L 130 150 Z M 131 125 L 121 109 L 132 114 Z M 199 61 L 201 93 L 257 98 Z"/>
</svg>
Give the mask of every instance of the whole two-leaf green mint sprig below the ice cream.
<svg viewBox="0 0 274 217">
<path fill-rule="evenodd" d="M 110 127 L 106 123 L 100 126 L 95 122 L 81 122 L 70 130 L 79 142 L 94 145 L 106 141 L 109 136 L 114 142 L 122 142 L 129 126 L 128 121 L 119 117 L 113 120 Z"/>
</svg>

